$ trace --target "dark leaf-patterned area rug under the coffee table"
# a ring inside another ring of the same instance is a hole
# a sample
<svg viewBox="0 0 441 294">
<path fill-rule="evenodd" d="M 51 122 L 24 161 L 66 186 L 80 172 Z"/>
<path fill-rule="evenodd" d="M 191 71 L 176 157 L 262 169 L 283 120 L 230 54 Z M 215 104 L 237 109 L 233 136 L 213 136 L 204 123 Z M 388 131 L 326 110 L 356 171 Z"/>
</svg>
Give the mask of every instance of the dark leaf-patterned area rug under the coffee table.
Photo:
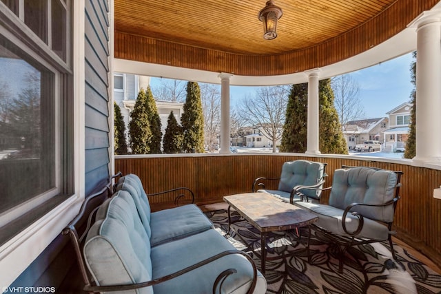
<svg viewBox="0 0 441 294">
<path fill-rule="evenodd" d="M 232 224 L 237 233 L 227 234 L 225 210 L 207 215 L 219 233 L 236 249 L 252 256 L 260 269 L 259 231 L 243 220 Z M 239 220 L 236 212 L 232 212 L 232 218 Z M 304 245 L 307 234 L 304 229 L 268 235 L 267 293 L 441 293 L 441 276 L 398 245 L 393 246 L 397 260 L 392 259 L 387 242 L 351 247 L 345 253 L 344 270 L 339 273 L 338 247 L 329 244 L 318 231 L 311 231 L 308 262 Z"/>
</svg>

